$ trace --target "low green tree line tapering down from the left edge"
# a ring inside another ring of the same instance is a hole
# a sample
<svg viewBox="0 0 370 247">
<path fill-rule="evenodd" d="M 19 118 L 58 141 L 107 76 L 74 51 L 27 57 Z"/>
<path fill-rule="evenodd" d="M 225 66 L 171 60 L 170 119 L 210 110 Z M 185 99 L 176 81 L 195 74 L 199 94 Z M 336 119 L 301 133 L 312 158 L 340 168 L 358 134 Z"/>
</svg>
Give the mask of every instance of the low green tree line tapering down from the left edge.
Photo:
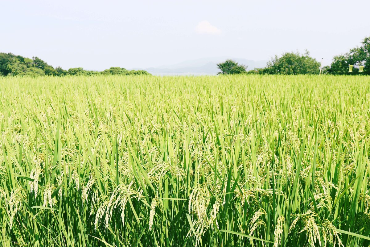
<svg viewBox="0 0 370 247">
<path fill-rule="evenodd" d="M 127 70 L 120 67 L 111 67 L 104 71 L 84 70 L 83 68 L 64 70 L 59 66 L 54 68 L 38 57 L 29 59 L 12 53 L 0 53 L 0 76 L 75 76 L 95 74 L 150 75 L 145 70 Z"/>
</svg>

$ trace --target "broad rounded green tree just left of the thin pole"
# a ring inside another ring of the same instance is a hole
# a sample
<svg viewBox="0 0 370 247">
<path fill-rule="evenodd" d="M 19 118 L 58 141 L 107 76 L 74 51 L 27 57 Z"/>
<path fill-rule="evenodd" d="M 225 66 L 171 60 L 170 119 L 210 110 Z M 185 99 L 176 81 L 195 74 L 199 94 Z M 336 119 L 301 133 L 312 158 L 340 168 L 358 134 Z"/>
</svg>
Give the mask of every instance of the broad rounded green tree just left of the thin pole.
<svg viewBox="0 0 370 247">
<path fill-rule="evenodd" d="M 260 74 L 319 74 L 320 63 L 309 56 L 299 52 L 284 53 L 281 57 L 275 56 L 267 63 L 267 67 L 260 69 Z"/>
</svg>

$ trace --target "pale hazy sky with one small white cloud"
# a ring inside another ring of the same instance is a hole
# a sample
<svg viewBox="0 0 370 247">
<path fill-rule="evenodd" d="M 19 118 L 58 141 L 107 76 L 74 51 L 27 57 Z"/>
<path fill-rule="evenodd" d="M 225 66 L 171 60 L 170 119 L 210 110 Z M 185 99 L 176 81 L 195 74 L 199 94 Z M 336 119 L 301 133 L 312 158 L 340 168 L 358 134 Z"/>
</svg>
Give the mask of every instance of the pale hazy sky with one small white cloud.
<svg viewBox="0 0 370 247">
<path fill-rule="evenodd" d="M 368 0 L 0 0 L 0 52 L 91 70 L 305 49 L 329 64 L 370 36 L 369 10 Z"/>
</svg>

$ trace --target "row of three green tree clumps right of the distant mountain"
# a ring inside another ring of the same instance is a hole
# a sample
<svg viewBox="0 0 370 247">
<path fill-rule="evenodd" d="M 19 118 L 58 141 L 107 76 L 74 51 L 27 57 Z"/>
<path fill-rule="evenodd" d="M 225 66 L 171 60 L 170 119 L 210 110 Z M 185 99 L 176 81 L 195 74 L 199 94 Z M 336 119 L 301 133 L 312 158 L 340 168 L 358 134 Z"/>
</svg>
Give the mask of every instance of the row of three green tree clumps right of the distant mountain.
<svg viewBox="0 0 370 247">
<path fill-rule="evenodd" d="M 321 64 L 309 55 L 307 50 L 304 54 L 300 54 L 299 52 L 284 53 L 281 57 L 275 56 L 271 59 L 265 68 L 256 68 L 250 71 L 247 71 L 248 66 L 228 59 L 223 63 L 217 64 L 217 67 L 221 70 L 218 74 L 319 74 Z M 349 65 L 354 66 L 352 72 L 349 72 Z M 364 66 L 363 72 L 360 72 L 360 66 Z M 321 68 L 321 73 L 334 75 L 369 75 L 369 67 L 370 37 L 366 37 L 361 42 L 361 46 L 350 49 L 349 52 L 342 55 L 335 56 L 330 66 Z"/>
</svg>

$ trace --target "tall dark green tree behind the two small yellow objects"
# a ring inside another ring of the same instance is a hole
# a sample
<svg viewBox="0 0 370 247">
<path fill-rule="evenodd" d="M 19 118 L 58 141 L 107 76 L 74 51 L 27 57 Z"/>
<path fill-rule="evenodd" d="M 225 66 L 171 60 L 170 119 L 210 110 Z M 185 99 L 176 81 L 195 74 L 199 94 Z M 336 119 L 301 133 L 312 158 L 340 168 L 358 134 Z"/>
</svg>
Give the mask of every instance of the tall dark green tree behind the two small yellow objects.
<svg viewBox="0 0 370 247">
<path fill-rule="evenodd" d="M 353 72 L 348 72 L 349 65 L 354 65 Z M 359 73 L 359 66 L 365 66 L 364 72 Z M 370 37 L 366 37 L 360 47 L 351 49 L 348 53 L 335 56 L 330 68 L 330 74 L 336 75 L 369 75 L 370 74 Z"/>
</svg>

